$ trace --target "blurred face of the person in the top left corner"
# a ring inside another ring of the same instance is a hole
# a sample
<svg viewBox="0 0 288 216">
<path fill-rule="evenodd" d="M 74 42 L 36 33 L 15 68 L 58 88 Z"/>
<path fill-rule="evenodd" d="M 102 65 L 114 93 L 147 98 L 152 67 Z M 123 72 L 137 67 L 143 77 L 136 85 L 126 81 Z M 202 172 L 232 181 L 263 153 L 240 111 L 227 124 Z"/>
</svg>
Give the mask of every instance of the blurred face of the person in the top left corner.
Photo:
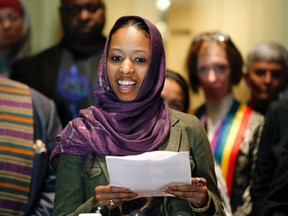
<svg viewBox="0 0 288 216">
<path fill-rule="evenodd" d="M 23 37 L 23 17 L 14 9 L 0 9 L 0 46 L 11 46 Z"/>
</svg>

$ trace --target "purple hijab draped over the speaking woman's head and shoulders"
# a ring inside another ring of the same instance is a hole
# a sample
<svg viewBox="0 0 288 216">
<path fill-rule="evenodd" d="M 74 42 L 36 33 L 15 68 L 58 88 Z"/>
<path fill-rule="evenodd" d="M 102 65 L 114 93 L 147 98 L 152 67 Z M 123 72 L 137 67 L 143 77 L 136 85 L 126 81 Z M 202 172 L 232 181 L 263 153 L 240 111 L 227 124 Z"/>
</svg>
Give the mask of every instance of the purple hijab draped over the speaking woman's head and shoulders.
<svg viewBox="0 0 288 216">
<path fill-rule="evenodd" d="M 150 62 L 140 92 L 133 102 L 120 101 L 110 90 L 106 57 L 111 32 L 118 23 L 137 19 L 147 25 L 151 40 Z M 153 151 L 164 143 L 170 130 L 169 110 L 161 98 L 166 71 L 161 34 L 146 19 L 119 18 L 111 29 L 99 63 L 98 103 L 80 111 L 57 136 L 51 159 L 60 153 L 87 155 L 135 155 Z"/>
</svg>

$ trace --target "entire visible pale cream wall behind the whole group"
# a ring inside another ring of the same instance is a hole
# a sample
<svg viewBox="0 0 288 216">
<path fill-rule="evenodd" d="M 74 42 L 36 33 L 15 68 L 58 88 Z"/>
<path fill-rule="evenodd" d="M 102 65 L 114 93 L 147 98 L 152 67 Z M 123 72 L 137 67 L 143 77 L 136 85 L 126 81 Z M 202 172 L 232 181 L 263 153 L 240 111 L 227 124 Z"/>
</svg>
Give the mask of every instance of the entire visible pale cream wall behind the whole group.
<svg viewBox="0 0 288 216">
<path fill-rule="evenodd" d="M 33 53 L 56 43 L 61 36 L 59 0 L 22 0 L 30 13 Z M 165 36 L 167 67 L 187 78 L 185 59 L 195 34 L 221 30 L 229 34 L 243 57 L 250 47 L 263 40 L 274 40 L 288 47 L 287 0 L 171 0 Z M 160 14 L 156 0 L 106 0 L 105 34 L 122 15 L 140 15 L 157 23 Z M 246 102 L 249 90 L 245 82 L 235 89 L 238 99 Z M 192 94 L 192 108 L 203 95 Z"/>
</svg>

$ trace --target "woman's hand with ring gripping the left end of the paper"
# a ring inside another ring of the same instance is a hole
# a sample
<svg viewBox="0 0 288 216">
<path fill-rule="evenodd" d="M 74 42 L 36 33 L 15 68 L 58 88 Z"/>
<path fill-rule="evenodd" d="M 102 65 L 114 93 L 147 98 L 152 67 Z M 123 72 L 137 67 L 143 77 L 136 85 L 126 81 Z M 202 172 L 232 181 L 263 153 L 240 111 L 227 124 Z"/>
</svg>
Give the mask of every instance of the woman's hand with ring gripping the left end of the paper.
<svg viewBox="0 0 288 216">
<path fill-rule="evenodd" d="M 94 204 L 99 203 L 106 205 L 109 210 L 121 205 L 123 202 L 137 197 L 138 194 L 134 193 L 128 188 L 114 187 L 110 185 L 97 186 L 95 188 Z"/>
</svg>

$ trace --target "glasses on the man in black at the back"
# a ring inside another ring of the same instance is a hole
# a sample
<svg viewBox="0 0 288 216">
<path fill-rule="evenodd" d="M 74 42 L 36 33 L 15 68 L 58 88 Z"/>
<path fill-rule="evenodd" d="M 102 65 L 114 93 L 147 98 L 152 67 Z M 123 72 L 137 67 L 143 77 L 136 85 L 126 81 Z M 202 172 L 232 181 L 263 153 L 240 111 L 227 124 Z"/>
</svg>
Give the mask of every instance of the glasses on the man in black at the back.
<svg viewBox="0 0 288 216">
<path fill-rule="evenodd" d="M 87 10 L 90 13 L 95 13 L 97 10 L 102 9 L 104 6 L 100 4 L 86 4 L 86 5 L 70 5 L 62 6 L 61 8 L 71 16 L 77 16 L 82 10 Z"/>
</svg>

